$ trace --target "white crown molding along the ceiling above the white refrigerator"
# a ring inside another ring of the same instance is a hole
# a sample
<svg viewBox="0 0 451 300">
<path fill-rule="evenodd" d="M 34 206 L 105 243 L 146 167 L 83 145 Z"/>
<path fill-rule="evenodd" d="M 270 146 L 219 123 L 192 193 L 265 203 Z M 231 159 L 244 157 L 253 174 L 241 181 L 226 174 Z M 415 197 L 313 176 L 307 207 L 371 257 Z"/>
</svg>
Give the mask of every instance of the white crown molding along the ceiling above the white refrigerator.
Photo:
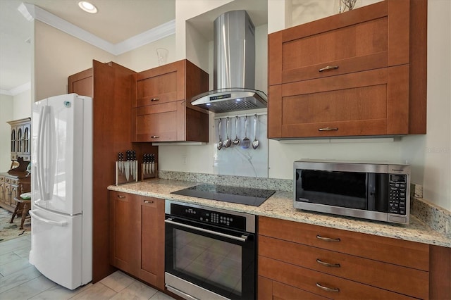
<svg viewBox="0 0 451 300">
<path fill-rule="evenodd" d="M 34 4 L 20 4 L 18 11 L 20 11 L 20 13 L 22 13 L 24 18 L 27 20 L 39 20 L 42 23 L 46 23 L 51 27 L 61 30 L 62 32 L 66 32 L 68 35 L 72 35 L 73 37 L 92 44 L 99 49 L 107 51 L 114 56 L 118 56 L 133 49 L 137 49 L 140 46 L 144 46 L 145 44 L 155 42 L 163 37 L 168 37 L 169 35 L 175 34 L 175 20 L 171 20 L 168 23 L 164 23 L 151 30 L 142 32 L 139 35 L 130 37 L 130 39 L 125 39 L 123 42 L 112 44 L 104 39 L 101 39 L 100 37 L 97 37 L 97 35 L 93 35 L 91 32 L 83 30 L 82 28 L 63 20 L 62 18 L 45 11 L 39 6 L 35 6 Z"/>
</svg>

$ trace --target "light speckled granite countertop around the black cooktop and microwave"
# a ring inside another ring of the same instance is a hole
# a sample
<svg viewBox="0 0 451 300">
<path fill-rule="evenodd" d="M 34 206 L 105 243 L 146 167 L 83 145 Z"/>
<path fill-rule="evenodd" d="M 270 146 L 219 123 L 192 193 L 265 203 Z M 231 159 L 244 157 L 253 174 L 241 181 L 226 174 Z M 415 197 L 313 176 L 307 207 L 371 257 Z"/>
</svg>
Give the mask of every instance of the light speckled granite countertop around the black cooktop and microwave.
<svg viewBox="0 0 451 300">
<path fill-rule="evenodd" d="M 263 215 L 271 218 L 332 227 L 341 230 L 362 232 L 370 235 L 379 235 L 382 237 L 392 237 L 395 239 L 404 239 L 412 242 L 451 247 L 450 237 L 446 237 L 445 235 L 432 230 L 431 227 L 428 227 L 428 225 L 421 222 L 421 220 L 416 218 L 414 215 L 411 215 L 409 225 L 402 225 L 363 220 L 359 218 L 348 218 L 329 215 L 326 213 L 300 211 L 292 206 L 292 193 L 280 191 L 277 191 L 273 194 L 273 196 L 268 198 L 264 204 L 261 204 L 261 206 L 258 207 L 171 194 L 171 192 L 175 192 L 179 189 L 185 189 L 187 187 L 193 187 L 194 185 L 199 185 L 199 183 L 157 179 L 119 186 L 111 185 L 108 189 L 143 196 L 153 196 L 166 200 L 199 204 L 214 208 L 223 208 L 230 211 L 252 213 L 254 215 Z"/>
</svg>

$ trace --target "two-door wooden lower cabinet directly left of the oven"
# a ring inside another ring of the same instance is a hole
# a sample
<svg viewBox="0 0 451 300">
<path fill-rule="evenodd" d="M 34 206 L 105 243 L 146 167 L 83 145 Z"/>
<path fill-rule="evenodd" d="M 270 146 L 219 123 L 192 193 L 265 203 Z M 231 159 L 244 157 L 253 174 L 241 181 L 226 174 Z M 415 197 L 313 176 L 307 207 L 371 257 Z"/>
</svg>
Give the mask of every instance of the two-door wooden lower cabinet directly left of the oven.
<svg viewBox="0 0 451 300">
<path fill-rule="evenodd" d="M 109 192 L 110 263 L 164 289 L 164 200 Z"/>
</svg>

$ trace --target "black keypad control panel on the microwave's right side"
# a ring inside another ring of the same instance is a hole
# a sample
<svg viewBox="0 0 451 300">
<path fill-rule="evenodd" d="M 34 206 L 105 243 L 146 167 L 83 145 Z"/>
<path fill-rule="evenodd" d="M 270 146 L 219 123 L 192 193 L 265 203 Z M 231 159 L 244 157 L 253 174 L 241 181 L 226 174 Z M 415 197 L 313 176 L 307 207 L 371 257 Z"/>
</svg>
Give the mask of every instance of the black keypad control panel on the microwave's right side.
<svg viewBox="0 0 451 300">
<path fill-rule="evenodd" d="M 407 175 L 390 174 L 390 191 L 388 192 L 388 213 L 406 214 Z"/>
</svg>

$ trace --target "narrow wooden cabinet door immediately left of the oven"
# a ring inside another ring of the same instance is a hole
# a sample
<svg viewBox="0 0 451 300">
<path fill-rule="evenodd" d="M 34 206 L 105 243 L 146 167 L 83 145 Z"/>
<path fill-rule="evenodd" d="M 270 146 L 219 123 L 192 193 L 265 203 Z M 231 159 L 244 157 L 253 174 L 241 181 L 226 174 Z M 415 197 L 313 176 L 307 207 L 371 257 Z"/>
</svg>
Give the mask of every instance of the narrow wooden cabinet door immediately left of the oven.
<svg viewBox="0 0 451 300">
<path fill-rule="evenodd" d="M 140 278 L 159 289 L 164 289 L 164 200 L 140 197 L 140 202 Z"/>
</svg>

